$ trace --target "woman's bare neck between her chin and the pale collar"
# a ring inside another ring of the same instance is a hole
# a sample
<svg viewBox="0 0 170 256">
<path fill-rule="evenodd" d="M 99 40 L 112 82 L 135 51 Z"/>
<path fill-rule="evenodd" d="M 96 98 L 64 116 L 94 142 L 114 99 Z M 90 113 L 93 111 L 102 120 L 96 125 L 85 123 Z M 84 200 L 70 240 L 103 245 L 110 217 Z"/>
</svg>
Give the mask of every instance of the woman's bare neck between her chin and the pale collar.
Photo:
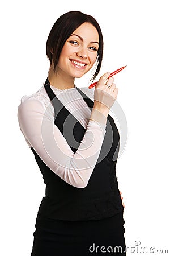
<svg viewBox="0 0 170 256">
<path fill-rule="evenodd" d="M 66 76 L 66 74 L 62 73 L 62 71 L 57 71 L 57 73 L 55 73 L 53 70 L 53 65 L 50 66 L 48 72 L 48 80 L 50 82 L 50 85 L 61 90 L 75 87 L 75 78 Z"/>
</svg>

